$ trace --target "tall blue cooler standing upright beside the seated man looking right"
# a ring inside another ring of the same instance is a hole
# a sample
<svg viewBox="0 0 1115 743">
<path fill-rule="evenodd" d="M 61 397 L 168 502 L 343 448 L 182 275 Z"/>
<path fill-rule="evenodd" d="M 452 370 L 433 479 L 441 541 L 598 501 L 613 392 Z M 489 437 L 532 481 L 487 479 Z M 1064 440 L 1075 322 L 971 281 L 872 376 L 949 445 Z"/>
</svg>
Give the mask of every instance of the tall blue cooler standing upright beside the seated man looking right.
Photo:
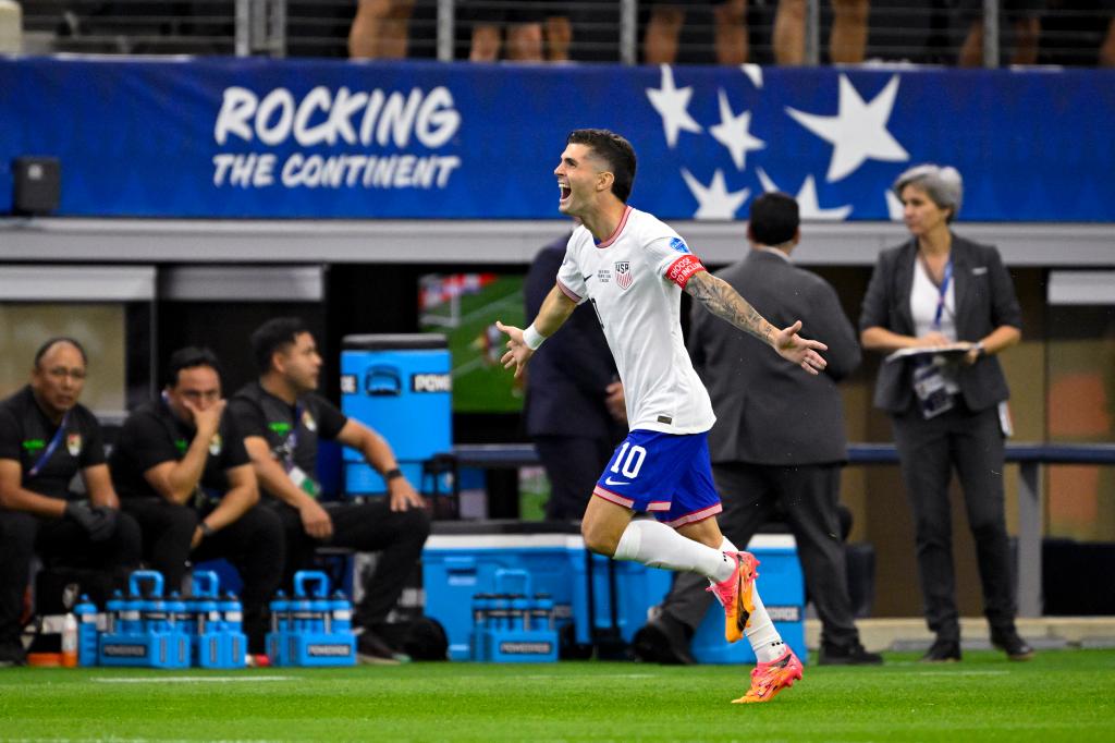
<svg viewBox="0 0 1115 743">
<path fill-rule="evenodd" d="M 415 488 L 423 463 L 453 447 L 453 378 L 446 338 L 437 334 L 345 336 L 341 412 L 386 438 Z M 362 454 L 345 448 L 349 495 L 387 492 Z"/>
</svg>

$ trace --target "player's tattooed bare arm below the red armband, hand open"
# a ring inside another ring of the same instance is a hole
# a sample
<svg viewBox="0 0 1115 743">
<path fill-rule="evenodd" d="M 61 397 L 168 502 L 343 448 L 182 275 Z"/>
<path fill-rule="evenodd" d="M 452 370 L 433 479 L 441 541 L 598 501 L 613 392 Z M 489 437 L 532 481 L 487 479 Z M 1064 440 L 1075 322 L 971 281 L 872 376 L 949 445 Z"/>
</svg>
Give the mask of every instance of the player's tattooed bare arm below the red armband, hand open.
<svg viewBox="0 0 1115 743">
<path fill-rule="evenodd" d="M 730 283 L 708 271 L 695 273 L 686 283 L 686 291 L 709 312 L 755 336 L 774 348 L 779 356 L 799 365 L 809 374 L 817 374 L 825 368 L 825 359 L 817 351 L 827 350 L 828 347 L 820 340 L 807 340 L 797 335 L 802 329 L 801 320 L 779 330 L 767 322 Z"/>
</svg>

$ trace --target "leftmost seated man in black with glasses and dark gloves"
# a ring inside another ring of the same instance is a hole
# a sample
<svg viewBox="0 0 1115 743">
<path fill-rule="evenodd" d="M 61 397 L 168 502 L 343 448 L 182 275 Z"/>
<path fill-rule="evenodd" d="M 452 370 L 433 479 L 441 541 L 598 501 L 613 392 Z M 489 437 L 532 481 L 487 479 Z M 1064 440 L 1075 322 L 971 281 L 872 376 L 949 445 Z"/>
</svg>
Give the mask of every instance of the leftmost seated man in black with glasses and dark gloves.
<svg viewBox="0 0 1115 743">
<path fill-rule="evenodd" d="M 85 374 L 80 344 L 51 338 L 31 384 L 0 403 L 0 666 L 25 662 L 19 616 L 32 554 L 110 571 L 122 586 L 139 563 L 139 527 L 118 511 L 100 424 L 77 402 Z M 79 472 L 87 501 L 69 492 Z"/>
</svg>

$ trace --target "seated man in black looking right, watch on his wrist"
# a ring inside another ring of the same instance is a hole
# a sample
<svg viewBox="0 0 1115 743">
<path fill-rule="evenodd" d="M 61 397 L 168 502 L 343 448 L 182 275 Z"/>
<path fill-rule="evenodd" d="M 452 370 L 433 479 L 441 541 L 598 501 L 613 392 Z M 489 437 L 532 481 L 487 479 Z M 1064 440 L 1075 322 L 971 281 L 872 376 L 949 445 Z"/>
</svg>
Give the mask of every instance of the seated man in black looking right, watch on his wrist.
<svg viewBox="0 0 1115 743">
<path fill-rule="evenodd" d="M 314 394 L 321 357 L 313 336 L 297 318 L 275 318 L 252 334 L 258 382 L 230 401 L 263 492 L 287 532 L 287 578 L 308 566 L 321 544 L 381 551 L 357 608 L 358 640 L 366 662 L 396 655 L 375 627 L 403 591 L 429 534 L 425 502 L 403 473 L 382 436 Z M 387 482 L 386 502 L 317 500 L 318 438 L 336 440 L 362 453 Z"/>
</svg>

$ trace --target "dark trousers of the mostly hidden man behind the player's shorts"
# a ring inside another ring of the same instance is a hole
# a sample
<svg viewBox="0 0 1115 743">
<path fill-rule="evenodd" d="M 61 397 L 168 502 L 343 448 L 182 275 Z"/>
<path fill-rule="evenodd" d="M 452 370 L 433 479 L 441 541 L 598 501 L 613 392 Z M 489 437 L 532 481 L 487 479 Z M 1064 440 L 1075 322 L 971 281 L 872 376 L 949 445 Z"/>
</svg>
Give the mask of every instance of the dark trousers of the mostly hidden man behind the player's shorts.
<svg viewBox="0 0 1115 743">
<path fill-rule="evenodd" d="M 617 443 L 607 436 L 534 436 L 534 447 L 550 479 L 547 519 L 569 521 L 584 515 Z"/>
</svg>

